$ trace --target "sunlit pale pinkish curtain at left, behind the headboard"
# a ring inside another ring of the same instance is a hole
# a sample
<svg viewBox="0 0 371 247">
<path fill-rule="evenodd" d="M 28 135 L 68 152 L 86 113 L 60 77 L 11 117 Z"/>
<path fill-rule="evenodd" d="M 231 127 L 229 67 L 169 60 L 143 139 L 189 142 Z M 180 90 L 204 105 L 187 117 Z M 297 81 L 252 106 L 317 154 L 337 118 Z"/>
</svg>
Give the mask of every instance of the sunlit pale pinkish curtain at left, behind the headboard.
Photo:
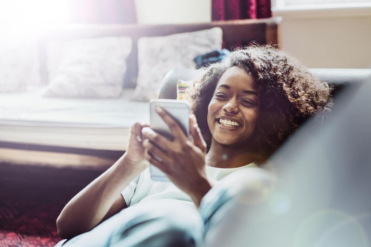
<svg viewBox="0 0 371 247">
<path fill-rule="evenodd" d="M 134 0 L 69 0 L 70 23 L 136 23 Z"/>
</svg>

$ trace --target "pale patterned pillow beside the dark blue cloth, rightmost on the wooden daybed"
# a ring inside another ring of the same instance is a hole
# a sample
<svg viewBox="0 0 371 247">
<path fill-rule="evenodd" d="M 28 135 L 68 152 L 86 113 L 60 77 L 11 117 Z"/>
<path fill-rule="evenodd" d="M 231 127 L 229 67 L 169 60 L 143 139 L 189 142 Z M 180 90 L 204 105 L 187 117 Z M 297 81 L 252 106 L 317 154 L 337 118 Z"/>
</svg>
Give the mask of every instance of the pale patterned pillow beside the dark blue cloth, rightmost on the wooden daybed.
<svg viewBox="0 0 371 247">
<path fill-rule="evenodd" d="M 162 79 L 174 68 L 195 69 L 193 59 L 221 49 L 223 30 L 220 27 L 178 33 L 162 37 L 138 39 L 138 79 L 135 100 L 157 99 Z"/>
</svg>

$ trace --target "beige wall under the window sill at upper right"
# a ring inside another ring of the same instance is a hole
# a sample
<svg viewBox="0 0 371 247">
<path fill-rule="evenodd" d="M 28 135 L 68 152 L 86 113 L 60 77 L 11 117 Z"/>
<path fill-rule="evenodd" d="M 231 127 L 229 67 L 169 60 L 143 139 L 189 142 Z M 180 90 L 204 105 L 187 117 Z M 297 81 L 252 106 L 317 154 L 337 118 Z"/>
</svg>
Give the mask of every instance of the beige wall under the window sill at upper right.
<svg viewBox="0 0 371 247">
<path fill-rule="evenodd" d="M 312 68 L 371 68 L 371 7 L 273 11 L 281 48 Z"/>
</svg>

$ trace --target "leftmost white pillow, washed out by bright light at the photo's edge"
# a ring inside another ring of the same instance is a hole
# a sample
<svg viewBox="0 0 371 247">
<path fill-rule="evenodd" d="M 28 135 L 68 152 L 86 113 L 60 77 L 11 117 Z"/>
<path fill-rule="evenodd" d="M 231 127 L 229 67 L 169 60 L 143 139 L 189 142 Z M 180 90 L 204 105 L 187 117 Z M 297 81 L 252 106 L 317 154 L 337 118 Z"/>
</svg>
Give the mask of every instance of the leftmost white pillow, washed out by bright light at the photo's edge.
<svg viewBox="0 0 371 247">
<path fill-rule="evenodd" d="M 0 92 L 24 91 L 39 84 L 39 62 L 35 40 L 0 41 Z"/>
</svg>

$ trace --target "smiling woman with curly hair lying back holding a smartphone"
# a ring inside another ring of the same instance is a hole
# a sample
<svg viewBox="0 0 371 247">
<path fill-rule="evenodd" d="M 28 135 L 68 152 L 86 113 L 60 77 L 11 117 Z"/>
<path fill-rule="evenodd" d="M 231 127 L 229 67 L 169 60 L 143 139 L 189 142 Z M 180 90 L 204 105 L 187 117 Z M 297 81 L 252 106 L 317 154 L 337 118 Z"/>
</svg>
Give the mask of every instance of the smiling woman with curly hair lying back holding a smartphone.
<svg viewBox="0 0 371 247">
<path fill-rule="evenodd" d="M 134 124 L 127 152 L 58 217 L 60 237 L 85 233 L 65 246 L 202 243 L 197 208 L 211 187 L 233 171 L 262 166 L 303 121 L 327 110 L 329 91 L 296 59 L 272 46 L 233 51 L 207 68 L 192 92 L 192 140 L 161 108 L 157 113 L 174 141 Z M 173 183 L 152 181 L 150 163 Z M 205 211 L 202 206 L 200 211 Z M 204 222 L 214 211 L 202 215 Z"/>
</svg>

